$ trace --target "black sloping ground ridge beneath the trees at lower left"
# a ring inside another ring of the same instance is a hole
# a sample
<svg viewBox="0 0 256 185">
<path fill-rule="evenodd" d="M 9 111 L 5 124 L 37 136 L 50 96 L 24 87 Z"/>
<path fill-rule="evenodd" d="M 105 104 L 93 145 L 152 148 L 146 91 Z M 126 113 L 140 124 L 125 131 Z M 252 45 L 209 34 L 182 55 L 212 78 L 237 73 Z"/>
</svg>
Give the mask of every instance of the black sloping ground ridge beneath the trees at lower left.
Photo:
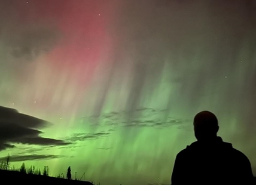
<svg viewBox="0 0 256 185">
<path fill-rule="evenodd" d="M 19 171 L 8 171 L 0 169 L 0 178 L 8 180 L 9 184 L 81 184 L 93 185 L 89 181 L 68 180 L 65 178 L 49 177 L 45 175 L 23 174 Z"/>
</svg>

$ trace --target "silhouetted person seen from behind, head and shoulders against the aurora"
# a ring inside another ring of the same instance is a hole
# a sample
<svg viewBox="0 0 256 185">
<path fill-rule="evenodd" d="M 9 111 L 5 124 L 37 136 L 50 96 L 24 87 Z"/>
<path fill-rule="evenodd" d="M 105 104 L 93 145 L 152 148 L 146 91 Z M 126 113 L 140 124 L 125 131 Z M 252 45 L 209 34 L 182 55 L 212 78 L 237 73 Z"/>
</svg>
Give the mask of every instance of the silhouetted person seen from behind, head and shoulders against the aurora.
<svg viewBox="0 0 256 185">
<path fill-rule="evenodd" d="M 203 111 L 194 117 L 197 141 L 176 156 L 172 185 L 252 183 L 249 159 L 217 137 L 218 129 L 218 119 L 213 113 Z"/>
</svg>

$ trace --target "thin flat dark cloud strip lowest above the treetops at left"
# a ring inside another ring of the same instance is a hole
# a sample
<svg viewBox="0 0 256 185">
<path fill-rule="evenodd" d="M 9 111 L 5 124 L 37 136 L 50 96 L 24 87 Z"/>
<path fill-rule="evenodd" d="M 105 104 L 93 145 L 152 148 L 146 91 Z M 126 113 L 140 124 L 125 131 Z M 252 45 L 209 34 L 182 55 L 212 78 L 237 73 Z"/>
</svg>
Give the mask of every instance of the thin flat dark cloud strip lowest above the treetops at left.
<svg viewBox="0 0 256 185">
<path fill-rule="evenodd" d="M 64 156 L 58 155 L 19 155 L 19 156 L 10 156 L 11 162 L 19 162 L 19 161 L 35 161 L 35 160 L 47 160 L 47 159 L 58 159 L 63 158 Z M 0 158 L 0 161 L 6 161 L 5 158 Z"/>
</svg>

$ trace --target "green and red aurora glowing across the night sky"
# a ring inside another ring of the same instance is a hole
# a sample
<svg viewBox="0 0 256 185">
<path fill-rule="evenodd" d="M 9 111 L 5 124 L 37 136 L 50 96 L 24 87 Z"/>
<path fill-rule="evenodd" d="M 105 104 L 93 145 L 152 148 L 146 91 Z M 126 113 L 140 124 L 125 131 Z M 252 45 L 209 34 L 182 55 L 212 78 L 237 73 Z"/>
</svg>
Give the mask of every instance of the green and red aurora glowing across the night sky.
<svg viewBox="0 0 256 185">
<path fill-rule="evenodd" d="M 252 0 L 1 1 L 0 106 L 49 124 L 21 124 L 33 139 L 0 137 L 0 156 L 102 185 L 168 184 L 176 153 L 196 140 L 193 116 L 210 110 L 256 174 L 255 10 Z"/>
</svg>

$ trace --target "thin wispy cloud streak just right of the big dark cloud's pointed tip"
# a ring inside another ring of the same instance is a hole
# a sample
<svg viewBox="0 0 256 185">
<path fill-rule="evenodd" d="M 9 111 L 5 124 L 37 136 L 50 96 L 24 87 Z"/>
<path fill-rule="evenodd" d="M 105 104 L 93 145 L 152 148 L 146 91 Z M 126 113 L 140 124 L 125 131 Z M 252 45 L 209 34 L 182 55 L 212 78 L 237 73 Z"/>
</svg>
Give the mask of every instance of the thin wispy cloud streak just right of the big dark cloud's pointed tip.
<svg viewBox="0 0 256 185">
<path fill-rule="evenodd" d="M 73 134 L 71 137 L 67 138 L 67 141 L 85 141 L 85 140 L 96 140 L 98 138 L 107 137 L 109 132 L 96 132 L 96 133 L 77 133 Z"/>
</svg>

